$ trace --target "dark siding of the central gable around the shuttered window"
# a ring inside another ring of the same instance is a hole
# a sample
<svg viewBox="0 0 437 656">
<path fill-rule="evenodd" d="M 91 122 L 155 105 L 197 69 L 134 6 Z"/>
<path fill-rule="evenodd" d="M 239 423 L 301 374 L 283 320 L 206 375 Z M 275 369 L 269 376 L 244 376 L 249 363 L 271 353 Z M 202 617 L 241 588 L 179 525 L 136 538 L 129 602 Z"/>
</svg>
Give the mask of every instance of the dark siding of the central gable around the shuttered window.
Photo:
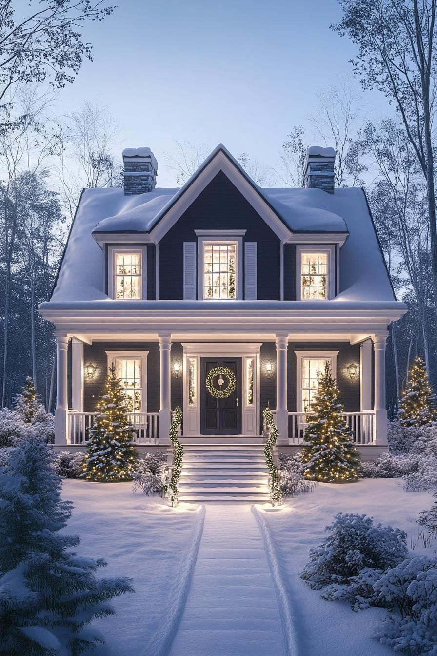
<svg viewBox="0 0 437 656">
<path fill-rule="evenodd" d="M 258 243 L 257 298 L 280 299 L 280 240 L 222 172 L 159 242 L 159 298 L 183 298 L 183 242 L 197 241 L 195 230 L 247 230 L 243 251 Z"/>
</svg>

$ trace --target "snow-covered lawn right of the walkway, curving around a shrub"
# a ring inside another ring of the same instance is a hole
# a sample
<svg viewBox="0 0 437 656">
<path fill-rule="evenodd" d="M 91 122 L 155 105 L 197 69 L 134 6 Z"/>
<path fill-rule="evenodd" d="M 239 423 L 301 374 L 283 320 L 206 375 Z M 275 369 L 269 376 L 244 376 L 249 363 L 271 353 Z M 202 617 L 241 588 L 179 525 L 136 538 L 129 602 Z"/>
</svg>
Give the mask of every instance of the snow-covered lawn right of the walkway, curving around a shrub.
<svg viewBox="0 0 437 656">
<path fill-rule="evenodd" d="M 426 492 L 406 493 L 399 479 L 364 479 L 357 483 L 322 483 L 312 493 L 287 501 L 281 508 L 256 506 L 255 513 L 267 535 L 269 561 L 278 569 L 288 598 L 299 656 L 389 656 L 394 652 L 373 639 L 372 633 L 387 611 L 370 608 L 354 613 L 343 602 L 326 602 L 318 590 L 301 581 L 299 572 L 311 546 L 326 535 L 324 527 L 337 512 L 358 512 L 375 522 L 391 524 L 417 537 L 415 519 L 434 499 Z M 269 545 L 270 543 L 270 545 Z M 413 554 L 432 554 L 436 544 Z M 270 547 L 270 548 L 269 548 Z M 275 578 L 275 571 L 273 571 Z"/>
</svg>

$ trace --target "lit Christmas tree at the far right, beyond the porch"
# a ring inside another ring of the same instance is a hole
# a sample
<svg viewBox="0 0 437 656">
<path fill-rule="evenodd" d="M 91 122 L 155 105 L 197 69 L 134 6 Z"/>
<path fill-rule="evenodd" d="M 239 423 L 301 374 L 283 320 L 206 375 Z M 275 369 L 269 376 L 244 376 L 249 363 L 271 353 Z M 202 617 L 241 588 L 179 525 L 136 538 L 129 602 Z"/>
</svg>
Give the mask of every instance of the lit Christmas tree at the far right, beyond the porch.
<svg viewBox="0 0 437 656">
<path fill-rule="evenodd" d="M 436 398 L 429 384 L 425 363 L 420 356 L 417 356 L 409 370 L 398 417 L 404 426 L 423 426 L 437 419 Z"/>
</svg>

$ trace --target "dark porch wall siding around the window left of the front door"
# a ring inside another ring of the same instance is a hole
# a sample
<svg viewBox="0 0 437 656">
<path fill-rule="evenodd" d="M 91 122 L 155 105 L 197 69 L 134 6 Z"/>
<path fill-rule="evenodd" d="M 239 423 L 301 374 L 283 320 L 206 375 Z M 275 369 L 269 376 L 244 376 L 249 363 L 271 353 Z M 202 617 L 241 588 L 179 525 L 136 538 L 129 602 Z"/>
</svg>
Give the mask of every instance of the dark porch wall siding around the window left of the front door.
<svg viewBox="0 0 437 656">
<path fill-rule="evenodd" d="M 94 342 L 84 345 L 83 357 L 85 367 L 92 363 L 97 367 L 92 380 L 84 382 L 84 411 L 94 412 L 98 397 L 104 391 L 107 374 L 107 356 L 105 351 L 148 351 L 147 356 L 147 411 L 159 411 L 159 344 L 157 342 Z"/>
</svg>

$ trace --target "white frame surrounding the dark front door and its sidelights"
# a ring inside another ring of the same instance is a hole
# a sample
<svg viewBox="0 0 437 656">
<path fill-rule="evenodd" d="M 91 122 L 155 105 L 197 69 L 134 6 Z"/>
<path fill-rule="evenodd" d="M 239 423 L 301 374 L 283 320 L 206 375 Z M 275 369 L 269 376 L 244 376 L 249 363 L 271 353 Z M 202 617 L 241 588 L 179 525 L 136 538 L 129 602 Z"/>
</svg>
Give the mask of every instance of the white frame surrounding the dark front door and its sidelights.
<svg viewBox="0 0 437 656">
<path fill-rule="evenodd" d="M 200 358 L 226 358 L 234 357 L 242 359 L 242 400 L 241 400 L 241 430 L 242 435 L 259 436 L 259 353 L 261 342 L 182 342 L 183 348 L 183 435 L 200 435 Z M 195 403 L 189 405 L 189 359 L 195 360 L 196 384 Z M 254 377 L 252 405 L 248 405 L 246 380 L 246 361 L 252 359 L 252 375 Z"/>
</svg>

